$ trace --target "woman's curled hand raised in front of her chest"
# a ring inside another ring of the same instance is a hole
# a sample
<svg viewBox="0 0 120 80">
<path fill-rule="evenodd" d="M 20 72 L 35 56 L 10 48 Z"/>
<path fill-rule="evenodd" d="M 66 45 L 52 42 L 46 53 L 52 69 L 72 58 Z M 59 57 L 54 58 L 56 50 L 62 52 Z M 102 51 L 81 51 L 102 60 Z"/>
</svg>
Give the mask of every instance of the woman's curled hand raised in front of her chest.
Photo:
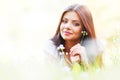
<svg viewBox="0 0 120 80">
<path fill-rule="evenodd" d="M 86 65 L 88 65 L 85 47 L 81 46 L 79 43 L 73 46 L 70 49 L 70 59 L 71 62 L 84 62 Z"/>
</svg>

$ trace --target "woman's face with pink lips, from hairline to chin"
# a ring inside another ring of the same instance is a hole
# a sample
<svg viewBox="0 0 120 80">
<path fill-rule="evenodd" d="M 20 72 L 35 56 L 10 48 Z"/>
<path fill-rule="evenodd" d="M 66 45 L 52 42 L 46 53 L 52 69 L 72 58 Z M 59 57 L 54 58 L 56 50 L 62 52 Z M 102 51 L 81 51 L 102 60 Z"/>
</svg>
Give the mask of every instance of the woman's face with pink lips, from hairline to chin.
<svg viewBox="0 0 120 80">
<path fill-rule="evenodd" d="M 74 11 L 66 12 L 63 16 L 60 33 L 65 41 L 80 41 L 82 22 Z"/>
</svg>

